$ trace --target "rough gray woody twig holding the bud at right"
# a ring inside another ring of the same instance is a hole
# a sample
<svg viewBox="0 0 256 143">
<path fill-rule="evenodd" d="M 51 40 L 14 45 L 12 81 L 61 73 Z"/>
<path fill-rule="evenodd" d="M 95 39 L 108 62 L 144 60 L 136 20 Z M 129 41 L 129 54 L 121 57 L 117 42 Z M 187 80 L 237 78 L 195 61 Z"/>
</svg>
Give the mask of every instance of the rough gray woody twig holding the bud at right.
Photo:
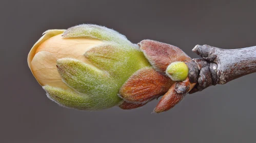
<svg viewBox="0 0 256 143">
<path fill-rule="evenodd" d="M 198 65 L 199 75 L 198 84 L 190 93 L 256 72 L 256 46 L 228 50 L 196 45 L 192 51 L 203 59 L 192 60 Z M 189 73 L 190 77 L 196 77 L 193 73 Z"/>
</svg>

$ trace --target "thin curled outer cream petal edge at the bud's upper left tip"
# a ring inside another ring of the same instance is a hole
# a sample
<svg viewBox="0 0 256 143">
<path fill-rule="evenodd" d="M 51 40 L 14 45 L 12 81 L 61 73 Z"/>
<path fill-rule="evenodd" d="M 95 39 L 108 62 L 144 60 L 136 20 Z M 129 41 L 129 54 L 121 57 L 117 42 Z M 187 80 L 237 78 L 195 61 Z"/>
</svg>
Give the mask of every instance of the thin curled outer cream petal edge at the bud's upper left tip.
<svg viewBox="0 0 256 143">
<path fill-rule="evenodd" d="M 37 47 L 40 46 L 44 41 L 46 41 L 50 37 L 53 37 L 58 34 L 62 34 L 64 31 L 65 30 L 52 29 L 52 30 L 47 30 L 46 32 L 43 33 L 43 36 L 33 45 L 32 49 L 28 54 L 28 66 L 30 69 L 31 69 L 31 61 L 35 56 L 35 51 L 37 50 Z"/>
</svg>

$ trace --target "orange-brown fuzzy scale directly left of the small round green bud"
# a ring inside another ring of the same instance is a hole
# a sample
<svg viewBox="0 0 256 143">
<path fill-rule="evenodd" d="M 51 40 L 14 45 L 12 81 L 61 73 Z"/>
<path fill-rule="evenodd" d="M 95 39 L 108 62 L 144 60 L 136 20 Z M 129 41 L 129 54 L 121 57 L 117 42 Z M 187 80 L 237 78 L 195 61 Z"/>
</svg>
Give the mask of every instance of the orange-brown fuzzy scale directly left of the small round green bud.
<svg viewBox="0 0 256 143">
<path fill-rule="evenodd" d="M 136 71 L 120 89 L 120 97 L 133 103 L 145 103 L 165 94 L 174 82 L 153 68 Z"/>
</svg>

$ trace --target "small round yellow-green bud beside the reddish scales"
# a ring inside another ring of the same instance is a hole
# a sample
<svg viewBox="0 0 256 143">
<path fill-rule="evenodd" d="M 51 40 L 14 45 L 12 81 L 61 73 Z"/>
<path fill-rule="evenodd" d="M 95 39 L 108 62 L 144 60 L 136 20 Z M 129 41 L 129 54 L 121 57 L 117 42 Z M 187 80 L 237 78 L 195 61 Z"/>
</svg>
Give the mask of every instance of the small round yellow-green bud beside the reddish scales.
<svg viewBox="0 0 256 143">
<path fill-rule="evenodd" d="M 173 81 L 183 81 L 188 76 L 188 66 L 184 62 L 173 62 L 168 65 L 166 74 Z"/>
</svg>

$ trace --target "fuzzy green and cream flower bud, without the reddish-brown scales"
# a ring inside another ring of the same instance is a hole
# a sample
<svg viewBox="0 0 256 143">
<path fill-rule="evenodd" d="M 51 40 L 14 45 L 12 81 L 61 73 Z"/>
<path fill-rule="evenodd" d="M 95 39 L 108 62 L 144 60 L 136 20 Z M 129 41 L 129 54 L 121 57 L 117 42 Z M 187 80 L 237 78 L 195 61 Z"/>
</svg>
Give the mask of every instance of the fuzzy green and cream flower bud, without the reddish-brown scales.
<svg viewBox="0 0 256 143">
<path fill-rule="evenodd" d="M 29 52 L 28 65 L 48 98 L 82 110 L 119 104 L 125 81 L 150 66 L 138 45 L 96 25 L 46 31 Z"/>
</svg>

